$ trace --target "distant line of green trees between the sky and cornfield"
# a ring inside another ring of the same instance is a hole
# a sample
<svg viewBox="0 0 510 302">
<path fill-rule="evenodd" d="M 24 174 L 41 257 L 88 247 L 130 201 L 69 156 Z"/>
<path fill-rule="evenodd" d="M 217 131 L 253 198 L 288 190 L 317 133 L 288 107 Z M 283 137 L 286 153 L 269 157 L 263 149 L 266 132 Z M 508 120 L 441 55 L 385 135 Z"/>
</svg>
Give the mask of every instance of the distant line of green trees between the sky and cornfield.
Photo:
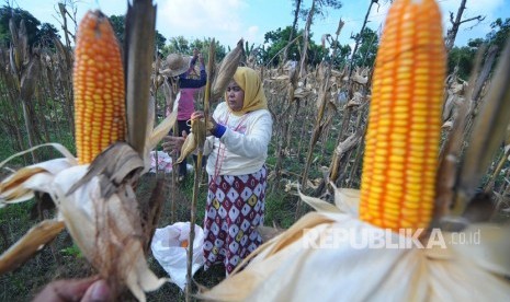
<svg viewBox="0 0 510 302">
<path fill-rule="evenodd" d="M 372 1 L 374 2 L 374 1 Z M 377 2 L 377 1 L 375 1 Z M 59 3 L 59 5 L 68 5 Z M 72 4 L 71 4 L 72 5 Z M 375 55 L 378 47 L 378 33 L 370 27 L 363 26 L 359 34 L 352 35 L 355 42 L 352 49 L 352 42 L 341 44 L 331 38 L 331 35 L 321 37 L 321 44 L 314 42 L 314 34 L 307 33 L 309 28 L 297 28 L 297 19 L 306 20 L 313 13 L 313 18 L 324 18 L 327 14 L 327 9 L 340 9 L 341 3 L 333 0 L 314 0 L 310 8 L 305 8 L 303 1 L 294 1 L 293 14 L 295 15 L 294 23 L 284 28 L 276 28 L 264 34 L 263 45 L 256 46 L 248 40 L 245 42 L 245 51 L 247 56 L 251 56 L 256 63 L 268 67 L 281 65 L 284 60 L 299 61 L 303 58 L 303 45 L 306 37 L 306 58 L 307 63 L 316 66 L 322 60 L 332 63 L 333 68 L 342 69 L 348 66 L 372 67 L 375 61 Z M 66 8 L 61 8 L 66 9 Z M 370 10 L 370 9 L 369 9 Z M 121 42 L 124 42 L 124 24 L 125 15 L 111 15 L 110 21 L 113 25 L 115 34 Z M 0 46 L 9 48 L 11 45 L 10 22 L 19 25 L 23 20 L 29 35 L 29 46 L 31 48 L 55 48 L 55 38 L 60 39 L 58 30 L 49 23 L 42 23 L 34 18 L 30 12 L 21 8 L 11 8 L 3 5 L 0 8 Z M 310 24 L 313 24 L 313 20 Z M 467 80 L 475 65 L 476 54 L 485 46 L 485 51 L 488 51 L 491 46 L 496 49 L 502 49 L 505 40 L 510 33 L 510 19 L 497 19 L 490 24 L 491 31 L 486 37 L 469 39 L 466 46 L 454 46 L 449 53 L 449 73 L 456 70 L 461 79 Z M 71 34 L 72 38 L 73 35 Z M 191 54 L 194 48 L 197 48 L 202 54 L 208 53 L 209 44 L 213 38 L 203 38 L 189 40 L 184 36 L 169 37 L 167 39 L 161 33 L 156 31 L 156 47 L 160 57 L 166 57 L 170 53 Z M 216 42 L 216 60 L 219 61 L 230 50 Z M 335 49 L 335 51 L 333 51 Z M 353 54 L 353 50 L 355 53 Z M 499 50 L 496 50 L 497 53 Z M 335 55 L 335 57 L 333 57 Z M 497 55 L 496 55 L 497 56 Z M 207 59 L 207 58 L 206 58 Z"/>
</svg>

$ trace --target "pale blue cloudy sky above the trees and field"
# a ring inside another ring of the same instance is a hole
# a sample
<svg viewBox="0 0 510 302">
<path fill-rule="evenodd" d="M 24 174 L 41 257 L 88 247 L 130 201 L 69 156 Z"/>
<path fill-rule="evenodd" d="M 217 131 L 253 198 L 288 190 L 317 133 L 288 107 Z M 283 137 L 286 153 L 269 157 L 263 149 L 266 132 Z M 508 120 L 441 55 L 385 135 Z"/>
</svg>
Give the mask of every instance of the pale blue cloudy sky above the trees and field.
<svg viewBox="0 0 510 302">
<path fill-rule="evenodd" d="M 64 1 L 64 0 L 60 0 Z M 127 11 L 128 0 L 66 0 L 77 7 L 77 20 L 88 10 L 100 9 L 106 15 L 122 15 Z M 29 11 L 42 23 L 47 22 L 60 28 L 61 19 L 57 13 L 58 0 L 10 0 L 12 7 Z M 157 4 L 156 30 L 167 40 L 183 36 L 189 42 L 214 37 L 226 47 L 235 47 L 240 38 L 256 47 L 264 43 L 264 34 L 292 25 L 293 0 L 154 0 Z M 325 18 L 317 16 L 311 25 L 313 39 L 319 44 L 325 34 L 335 36 L 338 23 L 344 21 L 340 44 L 353 44 L 351 35 L 360 32 L 371 0 L 340 0 L 340 10 L 329 10 Z M 378 32 L 389 8 L 388 0 L 374 4 L 369 16 L 369 26 Z M 461 0 L 438 0 L 443 13 L 443 28 L 450 24 L 450 12 L 456 14 Z M 303 0 L 305 8 L 311 0 Z M 463 19 L 485 15 L 478 25 L 464 23 L 458 31 L 455 45 L 464 46 L 469 38 L 485 37 L 490 23 L 497 18 L 510 18 L 510 0 L 467 0 Z M 299 28 L 305 21 L 301 20 Z"/>
</svg>

